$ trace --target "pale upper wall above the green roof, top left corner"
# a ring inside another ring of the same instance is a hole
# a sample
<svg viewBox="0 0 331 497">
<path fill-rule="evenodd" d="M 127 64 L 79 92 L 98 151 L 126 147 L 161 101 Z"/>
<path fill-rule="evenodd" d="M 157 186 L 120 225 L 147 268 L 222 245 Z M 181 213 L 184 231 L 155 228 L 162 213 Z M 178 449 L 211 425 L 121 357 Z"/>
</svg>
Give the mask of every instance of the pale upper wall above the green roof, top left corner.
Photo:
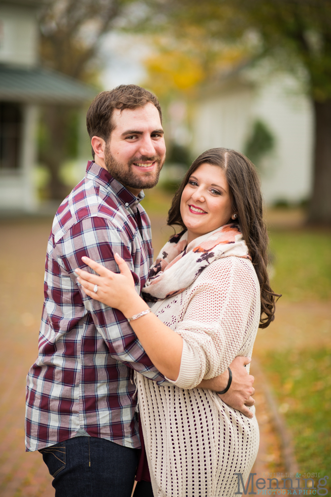
<svg viewBox="0 0 331 497">
<path fill-rule="evenodd" d="M 0 63 L 32 67 L 38 57 L 34 8 L 0 4 Z"/>
</svg>

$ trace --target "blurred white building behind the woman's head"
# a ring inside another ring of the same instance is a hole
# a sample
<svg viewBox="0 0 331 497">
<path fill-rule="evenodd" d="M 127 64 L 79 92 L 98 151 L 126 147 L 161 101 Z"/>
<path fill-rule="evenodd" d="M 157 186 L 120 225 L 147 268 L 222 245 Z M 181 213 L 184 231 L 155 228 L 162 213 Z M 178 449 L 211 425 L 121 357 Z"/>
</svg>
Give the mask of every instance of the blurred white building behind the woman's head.
<svg viewBox="0 0 331 497">
<path fill-rule="evenodd" d="M 254 122 L 265 123 L 274 149 L 261 164 L 265 202 L 289 203 L 311 192 L 313 112 L 309 99 L 288 74 L 260 77 L 242 69 L 205 88 L 193 119 L 194 152 L 214 147 L 245 151 Z"/>
</svg>

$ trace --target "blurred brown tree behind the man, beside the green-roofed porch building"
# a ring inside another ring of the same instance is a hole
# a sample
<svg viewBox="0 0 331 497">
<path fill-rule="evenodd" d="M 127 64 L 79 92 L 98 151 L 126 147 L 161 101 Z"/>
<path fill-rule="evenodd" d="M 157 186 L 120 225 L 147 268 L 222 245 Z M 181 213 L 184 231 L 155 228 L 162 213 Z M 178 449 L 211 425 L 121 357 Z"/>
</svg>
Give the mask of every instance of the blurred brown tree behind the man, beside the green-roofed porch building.
<svg viewBox="0 0 331 497">
<path fill-rule="evenodd" d="M 96 83 L 100 38 L 115 27 L 130 3 L 48 0 L 40 12 L 42 64 L 85 83 Z M 50 172 L 53 199 L 62 199 L 67 193 L 59 178 L 59 166 L 68 157 L 75 120 L 74 110 L 67 106 L 48 105 L 43 109 L 40 158 Z"/>
</svg>

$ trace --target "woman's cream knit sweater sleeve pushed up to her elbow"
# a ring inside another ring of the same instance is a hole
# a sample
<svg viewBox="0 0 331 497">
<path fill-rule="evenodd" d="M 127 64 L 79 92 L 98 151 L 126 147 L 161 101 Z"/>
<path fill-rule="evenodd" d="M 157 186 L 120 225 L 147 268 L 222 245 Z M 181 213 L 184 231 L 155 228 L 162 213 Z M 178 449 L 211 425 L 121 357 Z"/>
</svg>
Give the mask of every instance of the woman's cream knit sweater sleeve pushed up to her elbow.
<svg viewBox="0 0 331 497">
<path fill-rule="evenodd" d="M 253 347 L 260 321 L 260 286 L 251 262 L 224 257 L 205 268 L 187 290 L 176 331 L 183 338 L 174 383 L 190 389 L 223 373 Z"/>
</svg>

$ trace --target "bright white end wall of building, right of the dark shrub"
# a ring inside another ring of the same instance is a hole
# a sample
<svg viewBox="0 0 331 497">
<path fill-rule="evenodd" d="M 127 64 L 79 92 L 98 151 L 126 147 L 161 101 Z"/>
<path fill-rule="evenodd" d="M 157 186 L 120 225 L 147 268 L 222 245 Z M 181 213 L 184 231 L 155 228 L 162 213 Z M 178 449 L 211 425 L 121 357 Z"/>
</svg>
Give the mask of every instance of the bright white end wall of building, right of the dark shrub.
<svg viewBox="0 0 331 497">
<path fill-rule="evenodd" d="M 307 199 L 312 187 L 313 109 L 290 77 L 272 80 L 258 91 L 253 115 L 266 122 L 275 137 L 275 152 L 262 170 L 268 202 Z"/>
</svg>

